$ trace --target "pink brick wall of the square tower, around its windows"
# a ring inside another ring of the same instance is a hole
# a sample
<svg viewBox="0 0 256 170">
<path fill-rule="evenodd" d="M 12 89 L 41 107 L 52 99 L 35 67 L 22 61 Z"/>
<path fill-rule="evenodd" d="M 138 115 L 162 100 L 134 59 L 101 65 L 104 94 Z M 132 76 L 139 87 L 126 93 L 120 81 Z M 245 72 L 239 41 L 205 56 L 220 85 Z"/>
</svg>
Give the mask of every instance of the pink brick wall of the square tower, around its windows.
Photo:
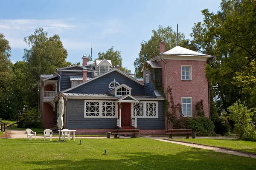
<svg viewBox="0 0 256 170">
<path fill-rule="evenodd" d="M 209 117 L 208 105 L 208 81 L 205 75 L 205 61 L 189 60 L 164 60 L 167 64 L 167 87 L 172 88 L 172 96 L 175 105 L 181 104 L 181 97 L 192 97 L 192 115 L 195 116 L 195 105 L 201 99 L 204 100 L 204 112 Z M 165 89 L 165 64 L 158 62 L 162 66 L 163 88 Z M 192 80 L 181 80 L 181 65 L 191 65 Z M 168 99 L 170 98 L 167 94 Z M 179 116 L 179 115 L 178 115 Z"/>
</svg>

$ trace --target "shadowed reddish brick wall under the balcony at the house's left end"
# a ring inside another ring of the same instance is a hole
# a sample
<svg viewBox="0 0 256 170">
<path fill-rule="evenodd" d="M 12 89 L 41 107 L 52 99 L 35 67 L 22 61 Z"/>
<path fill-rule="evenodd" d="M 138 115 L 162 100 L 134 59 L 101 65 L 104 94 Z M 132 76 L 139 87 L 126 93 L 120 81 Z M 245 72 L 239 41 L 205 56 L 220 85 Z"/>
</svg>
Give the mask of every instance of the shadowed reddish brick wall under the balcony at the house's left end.
<svg viewBox="0 0 256 170">
<path fill-rule="evenodd" d="M 52 128 L 54 127 L 54 109 L 52 106 L 47 103 L 43 102 L 42 105 L 42 123 L 44 128 Z"/>
</svg>

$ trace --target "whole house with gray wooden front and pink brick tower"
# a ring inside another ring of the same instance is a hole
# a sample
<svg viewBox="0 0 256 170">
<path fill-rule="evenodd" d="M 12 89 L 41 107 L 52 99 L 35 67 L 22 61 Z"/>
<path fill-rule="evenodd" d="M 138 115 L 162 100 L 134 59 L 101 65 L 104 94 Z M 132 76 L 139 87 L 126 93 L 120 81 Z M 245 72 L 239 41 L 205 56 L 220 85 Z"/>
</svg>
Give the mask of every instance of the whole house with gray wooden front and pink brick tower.
<svg viewBox="0 0 256 170">
<path fill-rule="evenodd" d="M 82 57 L 82 65 L 42 75 L 39 108 L 44 127 L 56 127 L 58 99 L 63 96 L 64 128 L 83 134 L 103 134 L 113 128 L 139 128 L 140 134 L 165 134 L 164 97 L 154 79 L 160 80 L 165 92 L 168 86 L 172 88 L 175 103 L 182 105 L 184 116 L 194 116 L 195 104 L 201 99 L 209 116 L 204 69 L 206 59 L 212 56 L 179 46 L 164 52 L 163 41 L 161 48 L 159 55 L 146 62 L 153 73 L 144 69 L 143 79 L 132 77 L 119 66 L 113 67 L 110 60 L 96 60 L 89 65 L 86 56 Z"/>
</svg>

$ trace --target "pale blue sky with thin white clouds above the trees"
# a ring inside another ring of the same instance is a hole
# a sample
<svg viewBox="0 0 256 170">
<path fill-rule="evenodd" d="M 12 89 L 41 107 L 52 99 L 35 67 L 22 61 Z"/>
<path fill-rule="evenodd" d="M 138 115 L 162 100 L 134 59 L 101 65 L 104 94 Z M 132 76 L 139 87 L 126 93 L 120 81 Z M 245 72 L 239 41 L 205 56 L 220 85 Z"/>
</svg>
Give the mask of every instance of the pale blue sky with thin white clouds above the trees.
<svg viewBox="0 0 256 170">
<path fill-rule="evenodd" d="M 134 72 L 140 43 L 149 40 L 158 25 L 172 26 L 190 38 L 194 23 L 203 20 L 201 10 L 216 13 L 221 0 L 5 0 L 1 2 L 0 33 L 12 48 L 12 62 L 22 60 L 27 48 L 23 38 L 43 27 L 49 36 L 59 34 L 67 61 L 93 59 L 112 46 L 121 51 L 122 65 Z"/>
</svg>

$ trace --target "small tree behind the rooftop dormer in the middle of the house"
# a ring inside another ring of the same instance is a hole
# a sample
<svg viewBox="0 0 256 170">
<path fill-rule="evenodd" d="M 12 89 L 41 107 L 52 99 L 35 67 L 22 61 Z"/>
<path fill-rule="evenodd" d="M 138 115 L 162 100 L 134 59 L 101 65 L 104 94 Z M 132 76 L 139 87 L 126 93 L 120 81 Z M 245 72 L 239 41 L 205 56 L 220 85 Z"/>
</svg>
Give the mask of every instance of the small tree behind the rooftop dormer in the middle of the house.
<svg viewBox="0 0 256 170">
<path fill-rule="evenodd" d="M 131 70 L 128 68 L 122 67 L 122 57 L 121 57 L 121 51 L 114 51 L 114 47 L 112 46 L 109 48 L 106 53 L 105 52 L 99 52 L 97 59 L 110 59 L 113 66 L 119 65 L 121 68 L 120 70 L 131 73 Z"/>
</svg>

